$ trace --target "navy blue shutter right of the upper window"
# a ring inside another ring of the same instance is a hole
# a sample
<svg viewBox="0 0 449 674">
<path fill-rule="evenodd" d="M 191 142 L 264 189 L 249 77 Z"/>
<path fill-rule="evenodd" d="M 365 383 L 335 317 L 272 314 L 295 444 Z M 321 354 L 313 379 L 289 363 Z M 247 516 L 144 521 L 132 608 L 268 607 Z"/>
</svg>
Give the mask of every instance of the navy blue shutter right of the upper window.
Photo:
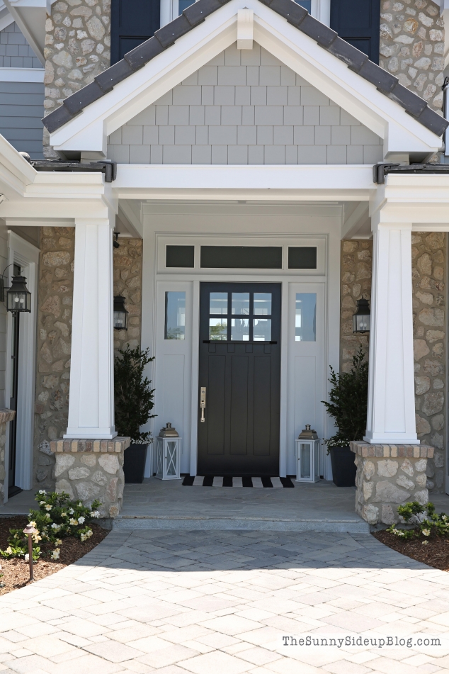
<svg viewBox="0 0 449 674">
<path fill-rule="evenodd" d="M 331 28 L 379 62 L 380 0 L 331 0 Z"/>
</svg>

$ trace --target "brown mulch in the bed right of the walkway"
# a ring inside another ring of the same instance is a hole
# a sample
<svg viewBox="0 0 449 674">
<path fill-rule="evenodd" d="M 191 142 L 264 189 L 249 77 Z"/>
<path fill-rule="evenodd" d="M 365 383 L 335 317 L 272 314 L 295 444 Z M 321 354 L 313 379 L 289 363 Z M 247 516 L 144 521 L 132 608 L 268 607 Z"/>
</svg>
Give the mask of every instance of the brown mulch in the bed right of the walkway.
<svg viewBox="0 0 449 674">
<path fill-rule="evenodd" d="M 389 532 L 374 532 L 373 536 L 389 548 L 400 552 L 406 557 L 421 561 L 441 571 L 449 571 L 449 539 L 438 536 L 428 538 L 427 545 L 423 545 L 424 537 L 404 541 Z"/>
</svg>

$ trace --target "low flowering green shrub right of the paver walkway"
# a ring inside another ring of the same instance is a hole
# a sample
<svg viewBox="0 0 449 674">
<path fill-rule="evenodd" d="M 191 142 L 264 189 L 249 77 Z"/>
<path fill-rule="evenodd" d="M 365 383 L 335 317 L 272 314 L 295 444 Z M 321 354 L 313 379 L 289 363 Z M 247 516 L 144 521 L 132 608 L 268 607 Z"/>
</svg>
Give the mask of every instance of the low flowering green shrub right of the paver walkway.
<svg viewBox="0 0 449 674">
<path fill-rule="evenodd" d="M 421 505 L 418 501 L 399 505 L 397 514 L 402 517 L 409 529 L 397 529 L 396 524 L 388 527 L 387 532 L 403 539 L 424 537 L 422 543 L 427 544 L 429 537 L 449 537 L 449 517 L 444 512 L 438 515 L 433 503 Z"/>
</svg>

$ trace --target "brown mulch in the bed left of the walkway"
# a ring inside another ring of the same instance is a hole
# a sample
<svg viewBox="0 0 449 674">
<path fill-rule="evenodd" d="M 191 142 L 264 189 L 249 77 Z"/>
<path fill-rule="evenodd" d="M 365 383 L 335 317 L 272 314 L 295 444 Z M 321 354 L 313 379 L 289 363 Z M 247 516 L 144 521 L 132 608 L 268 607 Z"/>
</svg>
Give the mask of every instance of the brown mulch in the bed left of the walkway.
<svg viewBox="0 0 449 674">
<path fill-rule="evenodd" d="M 25 529 L 28 524 L 28 517 L 1 517 L 0 518 L 0 549 L 4 550 L 8 547 L 9 529 Z M 58 560 L 50 559 L 50 552 L 54 546 L 49 544 L 40 545 L 41 556 L 37 562 L 33 564 L 33 573 L 35 580 L 46 578 L 47 575 L 52 575 L 64 568 L 73 564 L 79 558 L 84 557 L 90 552 L 98 543 L 108 535 L 106 529 L 102 529 L 98 524 L 91 522 L 89 526 L 92 529 L 92 536 L 81 543 L 78 538 L 69 537 L 62 539 L 62 545 L 59 546 L 60 554 Z M 5 595 L 6 592 L 23 588 L 30 582 L 30 566 L 25 562 L 23 557 L 6 559 L 0 557 L 0 566 L 3 577 L 0 578 L 0 583 L 4 583 L 4 587 L 0 588 L 0 595 Z"/>
</svg>

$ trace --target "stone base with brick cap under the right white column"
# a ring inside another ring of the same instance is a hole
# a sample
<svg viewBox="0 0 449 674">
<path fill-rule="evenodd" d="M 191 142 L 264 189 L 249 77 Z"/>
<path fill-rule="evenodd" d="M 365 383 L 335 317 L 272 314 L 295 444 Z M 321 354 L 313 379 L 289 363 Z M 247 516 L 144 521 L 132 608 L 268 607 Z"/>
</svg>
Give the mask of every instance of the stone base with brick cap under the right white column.
<svg viewBox="0 0 449 674">
<path fill-rule="evenodd" d="M 356 512 L 368 524 L 398 522 L 397 506 L 409 501 L 426 505 L 426 467 L 433 447 L 358 441 L 350 446 L 356 454 Z"/>
</svg>

